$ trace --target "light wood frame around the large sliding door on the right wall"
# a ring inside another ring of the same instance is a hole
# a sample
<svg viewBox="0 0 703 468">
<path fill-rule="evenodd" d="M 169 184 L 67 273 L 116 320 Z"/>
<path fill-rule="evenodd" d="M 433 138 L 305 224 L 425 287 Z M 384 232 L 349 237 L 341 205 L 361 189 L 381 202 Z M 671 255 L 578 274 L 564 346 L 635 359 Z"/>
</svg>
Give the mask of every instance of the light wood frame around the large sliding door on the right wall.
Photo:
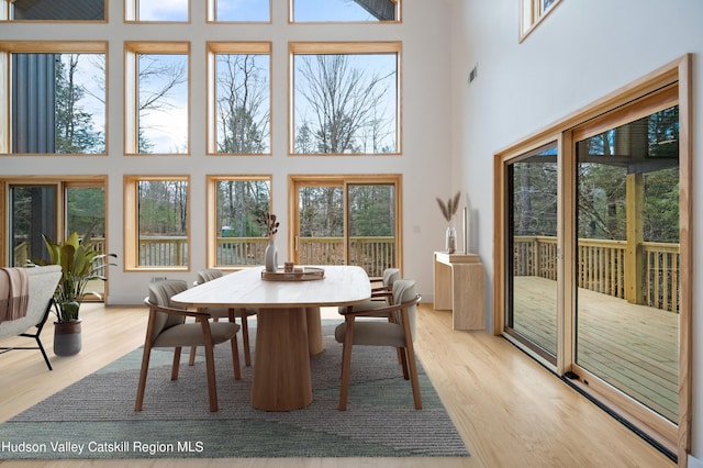
<svg viewBox="0 0 703 468">
<path fill-rule="evenodd" d="M 605 115 L 610 112 L 625 112 L 636 110 L 637 104 L 628 109 L 627 105 L 632 102 L 641 99 L 646 96 L 656 93 L 671 85 L 677 85 L 676 99 L 679 104 L 679 180 L 680 180 L 680 281 L 681 281 L 681 298 L 679 308 L 679 421 L 676 427 L 671 431 L 665 431 L 663 434 L 666 446 L 671 447 L 671 450 L 676 453 L 679 464 L 685 466 L 688 454 L 691 449 L 691 392 L 692 392 L 692 125 L 691 125 L 691 112 L 692 112 L 692 55 L 687 54 L 679 57 L 662 67 L 651 71 L 645 77 L 623 87 L 614 92 L 605 96 L 604 98 L 587 105 L 583 109 L 566 116 L 565 119 L 550 124 L 546 129 L 517 142 L 504 149 L 501 149 L 494 154 L 493 157 L 493 267 L 495 275 L 493 277 L 493 334 L 501 335 L 504 327 L 504 313 L 505 313 L 505 267 L 506 267 L 506 165 L 515 158 L 517 155 L 523 154 L 531 148 L 538 147 L 540 144 L 549 140 L 558 137 L 560 142 L 560 161 L 562 163 L 562 177 L 560 183 L 563 185 L 565 201 L 562 203 L 563 210 L 560 210 L 560 215 L 563 220 L 563 225 L 559 226 L 559 232 L 562 233 L 565 238 L 573 238 L 573 229 L 576 225 L 574 210 L 570 208 L 573 202 L 574 188 L 574 171 L 573 171 L 573 136 L 572 130 L 587 125 L 587 122 L 594 121 L 598 118 Z M 573 285 L 573 271 L 570 268 L 565 268 L 567 265 L 572 265 L 576 260 L 576 253 L 573 246 L 562 246 L 562 266 L 560 272 L 563 272 L 565 285 Z M 568 247 L 568 248 L 567 248 Z M 572 288 L 563 287 L 563 300 L 562 300 L 562 313 L 565 316 L 563 330 L 572 332 L 573 311 L 576 296 Z M 571 313 L 563 311 L 569 310 Z M 573 363 L 573 342 L 568 337 L 569 334 L 565 334 L 563 339 L 563 354 L 565 361 L 558 365 L 558 374 L 562 375 L 570 369 L 570 364 Z M 571 333 L 572 336 L 572 333 Z M 648 420 L 651 420 L 649 417 Z M 651 421 L 648 421 L 651 422 Z M 655 424 L 657 427 L 658 424 Z M 661 435 L 661 434 L 656 434 Z"/>
</svg>

